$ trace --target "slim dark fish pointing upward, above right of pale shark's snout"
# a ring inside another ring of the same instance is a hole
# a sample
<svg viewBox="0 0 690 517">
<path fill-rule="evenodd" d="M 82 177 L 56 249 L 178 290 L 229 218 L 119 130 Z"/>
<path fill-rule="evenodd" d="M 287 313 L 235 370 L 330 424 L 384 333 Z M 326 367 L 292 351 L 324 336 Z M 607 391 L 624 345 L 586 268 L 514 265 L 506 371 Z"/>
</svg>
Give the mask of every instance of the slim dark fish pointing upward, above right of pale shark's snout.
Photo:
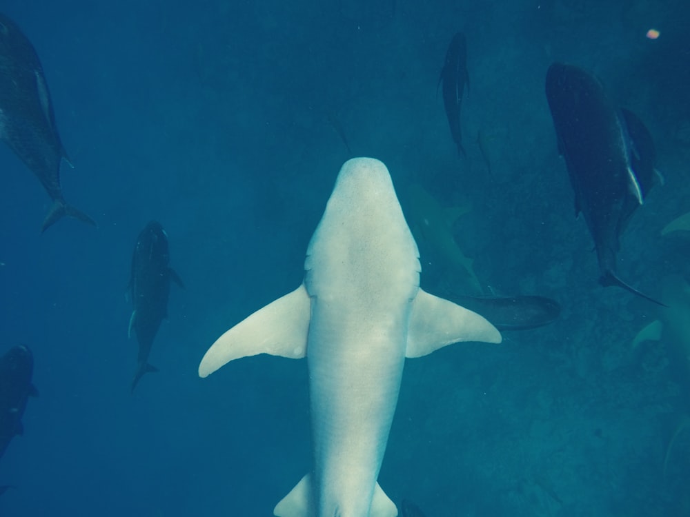
<svg viewBox="0 0 690 517">
<path fill-rule="evenodd" d="M 446 63 L 443 65 L 438 83 L 443 83 L 443 104 L 451 126 L 453 141 L 457 145 L 457 153 L 464 155 L 460 132 L 460 104 L 465 85 L 469 91 L 470 76 L 467 73 L 467 43 L 462 32 L 453 36 L 453 41 L 446 51 Z"/>
</svg>

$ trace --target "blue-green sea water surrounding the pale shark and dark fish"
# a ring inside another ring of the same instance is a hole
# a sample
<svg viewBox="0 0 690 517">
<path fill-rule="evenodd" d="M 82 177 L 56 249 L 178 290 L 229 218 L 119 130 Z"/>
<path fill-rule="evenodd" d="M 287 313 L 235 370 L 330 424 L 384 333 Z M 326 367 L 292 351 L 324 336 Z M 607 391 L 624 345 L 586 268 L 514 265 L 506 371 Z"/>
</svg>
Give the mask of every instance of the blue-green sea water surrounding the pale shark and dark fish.
<svg viewBox="0 0 690 517">
<path fill-rule="evenodd" d="M 563 306 L 502 345 L 408 361 L 384 491 L 428 517 L 690 515 L 690 430 L 662 475 L 690 411 L 686 379 L 667 343 L 631 347 L 656 308 L 596 282 L 544 97 L 549 64 L 574 63 L 647 124 L 666 185 L 635 214 L 620 274 L 651 294 L 690 274 L 690 234 L 660 237 L 690 208 L 690 8 L 656 4 L 4 1 L 41 57 L 75 164 L 66 199 L 99 228 L 39 234 L 48 196 L 0 148 L 0 352 L 28 344 L 40 392 L 0 460 L 0 485 L 17 487 L 0 516 L 264 516 L 308 471 L 304 361 L 196 372 L 222 332 L 302 281 L 348 158 L 335 125 L 399 192 L 415 181 L 446 205 L 471 199 L 456 238 L 493 292 Z M 466 159 L 435 94 L 457 30 Z M 132 395 L 125 292 L 150 219 L 186 290 L 172 286 L 150 356 L 160 372 Z M 420 249 L 422 285 L 448 287 Z"/>
</svg>

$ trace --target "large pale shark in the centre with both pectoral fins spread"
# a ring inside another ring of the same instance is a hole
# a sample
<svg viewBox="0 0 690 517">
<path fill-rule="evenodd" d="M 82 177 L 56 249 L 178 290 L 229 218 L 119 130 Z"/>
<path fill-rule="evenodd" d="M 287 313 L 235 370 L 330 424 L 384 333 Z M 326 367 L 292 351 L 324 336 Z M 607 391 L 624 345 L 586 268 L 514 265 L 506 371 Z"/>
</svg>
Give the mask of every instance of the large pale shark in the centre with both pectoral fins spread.
<svg viewBox="0 0 690 517">
<path fill-rule="evenodd" d="M 377 483 L 406 357 L 459 341 L 500 343 L 484 318 L 420 288 L 417 244 L 391 176 L 375 159 L 340 170 L 297 289 L 223 334 L 199 364 L 306 357 L 313 468 L 275 507 L 279 517 L 393 517 Z"/>
</svg>

